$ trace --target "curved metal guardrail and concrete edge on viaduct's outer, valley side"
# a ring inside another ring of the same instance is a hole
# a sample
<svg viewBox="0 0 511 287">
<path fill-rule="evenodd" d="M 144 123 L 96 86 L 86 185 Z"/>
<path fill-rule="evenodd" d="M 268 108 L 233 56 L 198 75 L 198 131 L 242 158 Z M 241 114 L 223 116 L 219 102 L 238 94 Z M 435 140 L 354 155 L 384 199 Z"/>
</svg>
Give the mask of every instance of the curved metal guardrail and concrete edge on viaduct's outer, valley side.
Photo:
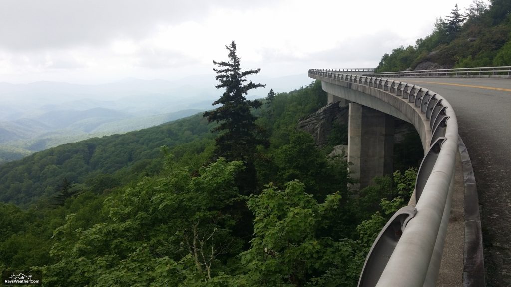
<svg viewBox="0 0 511 287">
<path fill-rule="evenodd" d="M 429 128 L 429 142 L 424 145 L 427 152 L 415 182 L 415 206 L 412 203 L 400 209 L 380 232 L 367 255 L 359 286 L 435 286 L 458 152 L 458 124 L 453 108 L 433 91 L 405 82 L 341 74 L 331 69 L 311 69 L 309 77 L 378 97 L 383 92 L 385 97 L 399 98 L 400 105 L 412 107 L 422 118 L 421 125 Z M 412 118 L 410 122 L 414 123 Z"/>
</svg>

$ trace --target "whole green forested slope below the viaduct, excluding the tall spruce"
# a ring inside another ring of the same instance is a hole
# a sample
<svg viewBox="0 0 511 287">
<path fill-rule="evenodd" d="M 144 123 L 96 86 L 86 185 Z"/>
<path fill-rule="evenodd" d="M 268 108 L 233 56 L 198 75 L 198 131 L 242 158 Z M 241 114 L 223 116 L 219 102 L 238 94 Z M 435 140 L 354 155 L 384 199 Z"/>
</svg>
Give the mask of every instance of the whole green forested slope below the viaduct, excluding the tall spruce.
<svg viewBox="0 0 511 287">
<path fill-rule="evenodd" d="M 315 82 L 253 111 L 270 146 L 251 195 L 200 114 L 1 166 L 3 200 L 24 208 L 0 203 L 0 269 L 41 270 L 47 286 L 355 286 L 415 174 L 353 197 L 347 163 L 296 129 L 326 100 Z"/>
</svg>

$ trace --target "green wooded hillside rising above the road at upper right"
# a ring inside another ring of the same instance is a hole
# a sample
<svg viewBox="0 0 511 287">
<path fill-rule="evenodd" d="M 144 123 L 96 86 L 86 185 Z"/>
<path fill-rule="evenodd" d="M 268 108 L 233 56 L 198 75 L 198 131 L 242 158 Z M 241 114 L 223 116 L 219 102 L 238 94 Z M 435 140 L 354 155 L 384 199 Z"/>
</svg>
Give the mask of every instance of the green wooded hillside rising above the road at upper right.
<svg viewBox="0 0 511 287">
<path fill-rule="evenodd" d="M 511 2 L 474 0 L 436 20 L 433 32 L 385 54 L 378 72 L 511 65 Z"/>
</svg>

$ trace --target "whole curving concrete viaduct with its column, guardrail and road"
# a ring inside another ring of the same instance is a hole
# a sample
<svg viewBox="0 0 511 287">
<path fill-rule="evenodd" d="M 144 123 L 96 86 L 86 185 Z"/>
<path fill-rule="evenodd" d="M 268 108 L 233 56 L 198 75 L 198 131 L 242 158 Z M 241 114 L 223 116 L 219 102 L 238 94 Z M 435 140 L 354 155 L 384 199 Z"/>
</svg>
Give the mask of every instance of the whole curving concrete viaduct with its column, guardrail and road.
<svg viewBox="0 0 511 287">
<path fill-rule="evenodd" d="M 362 187 L 392 171 L 395 118 L 425 151 L 414 196 L 381 231 L 359 286 L 511 285 L 509 68 L 309 70 L 329 103 L 349 105 L 347 154 Z"/>
</svg>

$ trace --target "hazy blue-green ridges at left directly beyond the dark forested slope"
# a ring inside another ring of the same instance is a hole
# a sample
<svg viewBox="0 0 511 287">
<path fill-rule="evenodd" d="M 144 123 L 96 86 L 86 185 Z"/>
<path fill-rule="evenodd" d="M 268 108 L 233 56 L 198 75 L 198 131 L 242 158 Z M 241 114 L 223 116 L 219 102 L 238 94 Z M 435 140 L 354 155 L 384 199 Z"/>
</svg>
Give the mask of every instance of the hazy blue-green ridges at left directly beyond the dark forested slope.
<svg viewBox="0 0 511 287">
<path fill-rule="evenodd" d="M 0 164 L 34 152 L 76 142 L 160 125 L 190 116 L 203 109 L 185 109 L 157 115 L 137 116 L 118 110 L 92 108 L 59 110 L 35 118 L 0 123 Z"/>
</svg>

